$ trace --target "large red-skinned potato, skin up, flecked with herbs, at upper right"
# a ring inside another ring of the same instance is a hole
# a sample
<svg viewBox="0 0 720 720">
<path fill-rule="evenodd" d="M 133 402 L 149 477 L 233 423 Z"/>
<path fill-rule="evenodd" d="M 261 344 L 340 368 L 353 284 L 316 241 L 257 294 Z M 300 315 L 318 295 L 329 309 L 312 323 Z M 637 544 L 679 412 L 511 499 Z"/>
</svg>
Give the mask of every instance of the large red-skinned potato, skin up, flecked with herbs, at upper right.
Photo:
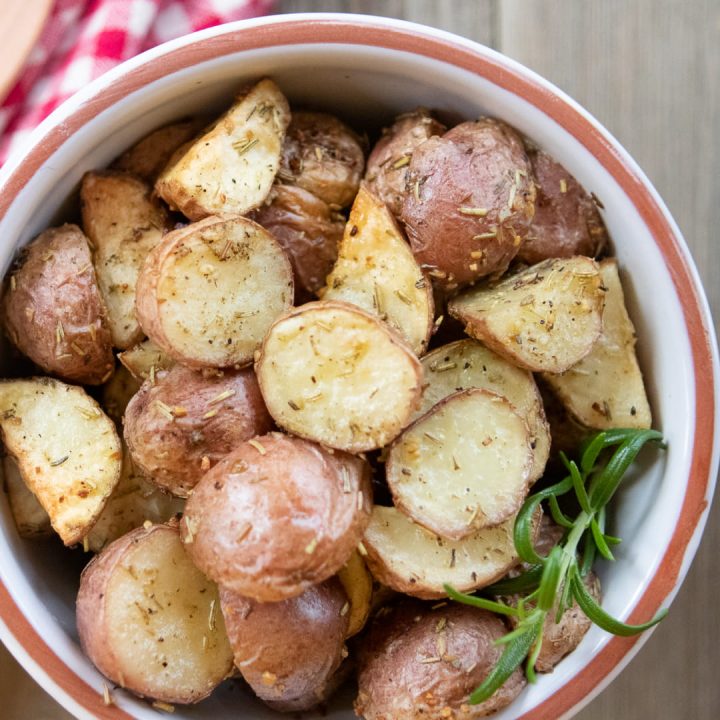
<svg viewBox="0 0 720 720">
<path fill-rule="evenodd" d="M 415 257 L 447 290 L 504 272 L 527 235 L 535 186 L 522 140 L 484 118 L 413 151 L 400 219 Z"/>
</svg>

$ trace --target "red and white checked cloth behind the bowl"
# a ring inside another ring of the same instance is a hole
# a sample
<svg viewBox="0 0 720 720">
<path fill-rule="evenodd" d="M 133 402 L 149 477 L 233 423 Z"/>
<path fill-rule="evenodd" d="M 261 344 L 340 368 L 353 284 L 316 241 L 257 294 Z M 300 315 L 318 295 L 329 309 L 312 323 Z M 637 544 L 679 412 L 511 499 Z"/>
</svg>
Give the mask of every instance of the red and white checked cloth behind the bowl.
<svg viewBox="0 0 720 720">
<path fill-rule="evenodd" d="M 273 0 L 55 0 L 17 84 L 0 105 L 0 166 L 63 100 L 167 40 L 269 12 Z"/>
</svg>

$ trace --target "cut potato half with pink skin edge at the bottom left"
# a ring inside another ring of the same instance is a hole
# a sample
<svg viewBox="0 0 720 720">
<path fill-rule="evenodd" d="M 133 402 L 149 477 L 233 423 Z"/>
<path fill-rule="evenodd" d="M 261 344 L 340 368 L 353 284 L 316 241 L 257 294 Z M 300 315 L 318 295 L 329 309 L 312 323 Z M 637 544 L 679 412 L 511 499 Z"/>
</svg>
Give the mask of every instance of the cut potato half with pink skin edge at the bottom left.
<svg viewBox="0 0 720 720">
<path fill-rule="evenodd" d="M 190 562 L 176 526 L 133 530 L 88 564 L 77 628 L 103 675 L 166 703 L 202 700 L 232 670 L 217 587 Z"/>
</svg>

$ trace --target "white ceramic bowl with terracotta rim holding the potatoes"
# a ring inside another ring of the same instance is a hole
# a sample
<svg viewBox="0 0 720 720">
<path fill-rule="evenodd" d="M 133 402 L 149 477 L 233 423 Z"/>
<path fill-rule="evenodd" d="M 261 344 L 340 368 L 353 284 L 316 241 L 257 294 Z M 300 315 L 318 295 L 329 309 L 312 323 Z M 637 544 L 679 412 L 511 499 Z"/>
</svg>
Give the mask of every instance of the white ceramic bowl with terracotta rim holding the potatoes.
<svg viewBox="0 0 720 720">
<path fill-rule="evenodd" d="M 623 270 L 640 360 L 667 453 L 646 464 L 615 502 L 617 562 L 599 568 L 605 607 L 645 620 L 675 595 L 697 548 L 718 460 L 718 365 L 713 326 L 687 247 L 633 160 L 582 108 L 502 55 L 394 20 L 283 16 L 203 31 L 151 50 L 59 108 L 30 149 L 0 176 L 0 270 L 18 247 L 62 216 L 83 172 L 109 163 L 162 123 L 227 105 L 245 80 L 272 76 L 291 103 L 377 127 L 417 105 L 500 117 L 547 149 L 604 203 Z M 78 561 L 18 539 L 0 503 L 0 637 L 60 703 L 81 718 L 151 718 L 121 691 L 102 702 L 103 678 L 78 646 Z M 642 640 L 597 628 L 496 717 L 569 717 L 606 685 Z M 349 699 L 330 718 L 350 718 Z M 177 718 L 275 717 L 228 683 Z"/>
</svg>

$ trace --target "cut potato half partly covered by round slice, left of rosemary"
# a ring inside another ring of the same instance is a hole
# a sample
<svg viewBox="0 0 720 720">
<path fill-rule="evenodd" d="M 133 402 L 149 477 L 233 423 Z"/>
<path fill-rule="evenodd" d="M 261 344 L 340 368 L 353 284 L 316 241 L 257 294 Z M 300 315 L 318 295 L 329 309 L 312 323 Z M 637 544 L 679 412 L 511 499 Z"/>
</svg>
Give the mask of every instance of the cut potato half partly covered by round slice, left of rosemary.
<svg viewBox="0 0 720 720">
<path fill-rule="evenodd" d="M 370 572 L 383 585 L 434 600 L 446 597 L 445 583 L 469 592 L 492 584 L 517 565 L 514 525 L 512 517 L 462 540 L 446 540 L 397 508 L 376 505 L 363 547 Z"/>
</svg>

